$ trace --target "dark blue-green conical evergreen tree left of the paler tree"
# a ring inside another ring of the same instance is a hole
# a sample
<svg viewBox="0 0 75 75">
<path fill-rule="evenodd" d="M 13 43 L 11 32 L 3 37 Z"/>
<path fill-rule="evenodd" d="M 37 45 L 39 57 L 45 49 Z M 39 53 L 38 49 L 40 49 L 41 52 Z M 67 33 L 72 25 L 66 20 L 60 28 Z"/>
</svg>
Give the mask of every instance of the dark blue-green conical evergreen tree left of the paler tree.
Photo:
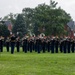
<svg viewBox="0 0 75 75">
<path fill-rule="evenodd" d="M 23 36 L 27 33 L 27 28 L 25 25 L 25 20 L 22 14 L 18 14 L 15 24 L 13 26 L 13 33 L 20 33 L 20 36 Z"/>
</svg>

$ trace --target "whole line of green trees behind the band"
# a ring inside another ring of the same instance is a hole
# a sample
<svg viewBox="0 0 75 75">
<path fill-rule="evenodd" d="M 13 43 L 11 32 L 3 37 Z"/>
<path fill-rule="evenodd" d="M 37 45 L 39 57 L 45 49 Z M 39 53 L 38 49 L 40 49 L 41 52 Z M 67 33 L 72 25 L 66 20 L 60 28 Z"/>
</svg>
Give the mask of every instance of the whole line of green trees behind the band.
<svg viewBox="0 0 75 75">
<path fill-rule="evenodd" d="M 4 16 L 2 20 L 10 20 L 13 28 L 12 32 L 19 32 L 20 36 L 32 33 L 38 35 L 45 33 L 46 35 L 67 35 L 65 25 L 72 20 L 61 7 L 57 7 L 57 2 L 50 0 L 50 4 L 39 4 L 35 8 L 23 8 L 22 13 L 10 13 Z M 7 27 L 0 23 L 0 35 L 8 36 Z M 3 27 L 3 28 L 2 28 Z M 7 34 L 6 34 L 7 32 Z"/>
</svg>

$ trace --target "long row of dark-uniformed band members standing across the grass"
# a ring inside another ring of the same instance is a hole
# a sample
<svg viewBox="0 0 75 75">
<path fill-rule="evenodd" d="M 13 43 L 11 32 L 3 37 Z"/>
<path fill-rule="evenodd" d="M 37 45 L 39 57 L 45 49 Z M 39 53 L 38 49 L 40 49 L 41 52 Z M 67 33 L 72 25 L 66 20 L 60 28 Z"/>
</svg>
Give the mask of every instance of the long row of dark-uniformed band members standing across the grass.
<svg viewBox="0 0 75 75">
<path fill-rule="evenodd" d="M 34 35 L 31 37 L 24 36 L 22 39 L 16 37 L 14 34 L 11 37 L 7 37 L 5 41 L 7 52 L 9 52 L 9 47 L 11 46 L 11 54 L 14 53 L 14 48 L 16 46 L 17 52 L 20 51 L 22 46 L 23 52 L 27 53 L 28 51 L 38 52 L 41 51 L 45 53 L 46 51 L 51 53 L 74 53 L 75 50 L 75 40 L 69 37 L 49 37 L 49 36 L 37 36 Z M 3 52 L 3 38 L 0 36 L 0 52 Z"/>
</svg>

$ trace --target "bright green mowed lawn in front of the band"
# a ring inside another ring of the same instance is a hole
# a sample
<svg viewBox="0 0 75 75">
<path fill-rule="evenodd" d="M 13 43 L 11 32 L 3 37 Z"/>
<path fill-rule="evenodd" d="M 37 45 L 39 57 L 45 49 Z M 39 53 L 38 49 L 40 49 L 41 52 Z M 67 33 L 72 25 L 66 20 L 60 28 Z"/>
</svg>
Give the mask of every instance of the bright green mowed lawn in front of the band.
<svg viewBox="0 0 75 75">
<path fill-rule="evenodd" d="M 75 53 L 0 53 L 0 75 L 75 75 Z"/>
</svg>

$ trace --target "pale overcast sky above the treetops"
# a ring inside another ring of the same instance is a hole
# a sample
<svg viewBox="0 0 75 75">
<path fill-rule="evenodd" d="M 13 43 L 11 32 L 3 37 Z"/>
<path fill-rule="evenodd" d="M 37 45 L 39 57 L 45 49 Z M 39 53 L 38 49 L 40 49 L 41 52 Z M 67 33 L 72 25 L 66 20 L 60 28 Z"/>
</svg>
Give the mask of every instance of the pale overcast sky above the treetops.
<svg viewBox="0 0 75 75">
<path fill-rule="evenodd" d="M 58 6 L 69 13 L 75 21 L 75 0 L 55 0 Z M 11 13 L 21 13 L 25 7 L 34 8 L 38 4 L 46 3 L 49 5 L 50 0 L 0 0 L 0 17 Z"/>
</svg>

